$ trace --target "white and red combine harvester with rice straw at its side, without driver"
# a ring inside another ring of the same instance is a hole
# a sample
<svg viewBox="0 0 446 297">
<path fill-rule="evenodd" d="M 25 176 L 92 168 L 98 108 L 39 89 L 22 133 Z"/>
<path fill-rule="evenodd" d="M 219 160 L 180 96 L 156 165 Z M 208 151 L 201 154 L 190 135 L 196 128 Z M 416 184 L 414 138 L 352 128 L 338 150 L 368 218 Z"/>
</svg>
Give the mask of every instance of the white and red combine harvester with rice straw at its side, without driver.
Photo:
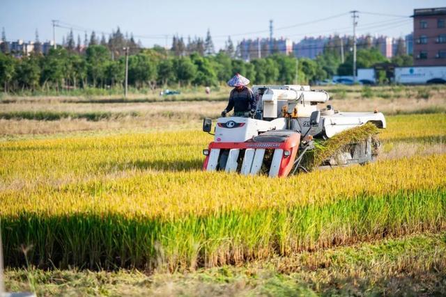
<svg viewBox="0 0 446 297">
<path fill-rule="evenodd" d="M 258 98 L 254 118 L 217 119 L 214 141 L 203 150 L 203 170 L 286 177 L 315 167 L 364 164 L 376 158 L 379 142 L 374 134 L 376 128 L 386 127 L 383 113 L 334 111 L 330 105 L 317 109 L 330 96 L 309 86 L 253 86 L 252 90 Z M 203 131 L 211 129 L 212 120 L 204 119 Z M 328 145 L 329 155 L 315 158 L 317 147 L 345 134 L 344 141 Z"/>
</svg>

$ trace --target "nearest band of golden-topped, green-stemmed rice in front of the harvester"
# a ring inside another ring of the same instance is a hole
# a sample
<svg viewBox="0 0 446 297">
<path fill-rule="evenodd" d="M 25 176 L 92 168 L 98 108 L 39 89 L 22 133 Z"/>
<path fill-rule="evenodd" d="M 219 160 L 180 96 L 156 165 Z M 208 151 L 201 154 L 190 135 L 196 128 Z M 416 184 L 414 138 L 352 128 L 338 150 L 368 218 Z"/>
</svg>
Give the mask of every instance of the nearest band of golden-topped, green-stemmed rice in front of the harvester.
<svg viewBox="0 0 446 297">
<path fill-rule="evenodd" d="M 112 182 L 6 191 L 0 196 L 6 262 L 20 266 L 16 251 L 24 244 L 34 247 L 29 260 L 40 266 L 176 271 L 441 230 L 445 158 L 385 161 L 290 179 L 141 173 Z"/>
</svg>

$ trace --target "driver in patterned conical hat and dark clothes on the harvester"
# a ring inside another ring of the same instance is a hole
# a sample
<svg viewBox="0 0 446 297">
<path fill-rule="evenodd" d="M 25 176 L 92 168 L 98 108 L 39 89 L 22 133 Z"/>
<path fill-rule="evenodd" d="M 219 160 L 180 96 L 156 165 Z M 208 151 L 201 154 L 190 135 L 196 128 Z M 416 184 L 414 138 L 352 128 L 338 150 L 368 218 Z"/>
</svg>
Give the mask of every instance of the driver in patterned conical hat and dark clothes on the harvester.
<svg viewBox="0 0 446 297">
<path fill-rule="evenodd" d="M 222 111 L 222 117 L 226 116 L 234 109 L 234 116 L 250 118 L 256 112 L 256 98 L 252 90 L 247 87 L 249 79 L 241 76 L 240 74 L 234 75 L 232 79 L 229 79 L 228 86 L 234 87 L 229 95 L 229 102 L 226 109 Z"/>
</svg>

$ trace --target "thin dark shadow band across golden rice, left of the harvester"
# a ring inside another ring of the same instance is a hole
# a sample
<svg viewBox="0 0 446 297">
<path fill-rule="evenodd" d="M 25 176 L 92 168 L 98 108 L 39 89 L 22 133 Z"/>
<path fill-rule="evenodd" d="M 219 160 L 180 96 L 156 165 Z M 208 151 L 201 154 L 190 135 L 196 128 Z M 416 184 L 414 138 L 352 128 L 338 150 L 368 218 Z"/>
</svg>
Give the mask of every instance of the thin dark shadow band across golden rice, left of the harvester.
<svg viewBox="0 0 446 297">
<path fill-rule="evenodd" d="M 193 160 L 178 160 L 178 161 L 167 161 L 163 159 L 157 160 L 145 160 L 145 161 L 130 161 L 123 163 L 100 163 L 99 168 L 106 168 L 106 170 L 129 170 L 129 169 L 139 169 L 139 170 L 161 170 L 166 172 L 178 172 L 178 171 L 188 171 L 188 170 L 201 170 L 203 166 L 203 159 L 193 159 Z"/>
</svg>

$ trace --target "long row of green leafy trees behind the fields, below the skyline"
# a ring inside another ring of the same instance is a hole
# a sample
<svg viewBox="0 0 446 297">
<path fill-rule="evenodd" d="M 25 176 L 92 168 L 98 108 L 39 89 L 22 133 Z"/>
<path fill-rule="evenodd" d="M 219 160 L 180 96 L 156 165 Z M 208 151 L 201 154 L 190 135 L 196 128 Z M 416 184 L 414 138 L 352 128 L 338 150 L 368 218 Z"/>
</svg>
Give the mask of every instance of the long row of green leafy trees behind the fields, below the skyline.
<svg viewBox="0 0 446 297">
<path fill-rule="evenodd" d="M 128 40 L 123 38 L 121 42 Z M 63 47 L 51 49 L 45 56 L 31 54 L 15 58 L 0 54 L 0 88 L 17 91 L 121 87 L 125 78 L 125 56 L 111 50 L 110 45 L 93 43 L 80 54 Z M 116 50 L 117 47 L 122 48 L 121 44 L 115 46 Z M 406 55 L 392 60 L 398 65 L 410 65 L 411 61 Z M 387 58 L 375 47 L 357 51 L 358 68 L 386 62 L 389 62 Z M 194 51 L 177 56 L 174 50 L 154 47 L 130 54 L 128 82 L 135 88 L 217 86 L 238 72 L 252 83 L 296 83 L 297 80 L 298 83 L 312 83 L 334 74 L 351 75 L 352 65 L 351 53 L 346 54 L 342 63 L 337 47 L 330 45 L 315 60 L 273 54 L 250 62 L 232 58 L 226 50 L 218 54 Z"/>
</svg>

